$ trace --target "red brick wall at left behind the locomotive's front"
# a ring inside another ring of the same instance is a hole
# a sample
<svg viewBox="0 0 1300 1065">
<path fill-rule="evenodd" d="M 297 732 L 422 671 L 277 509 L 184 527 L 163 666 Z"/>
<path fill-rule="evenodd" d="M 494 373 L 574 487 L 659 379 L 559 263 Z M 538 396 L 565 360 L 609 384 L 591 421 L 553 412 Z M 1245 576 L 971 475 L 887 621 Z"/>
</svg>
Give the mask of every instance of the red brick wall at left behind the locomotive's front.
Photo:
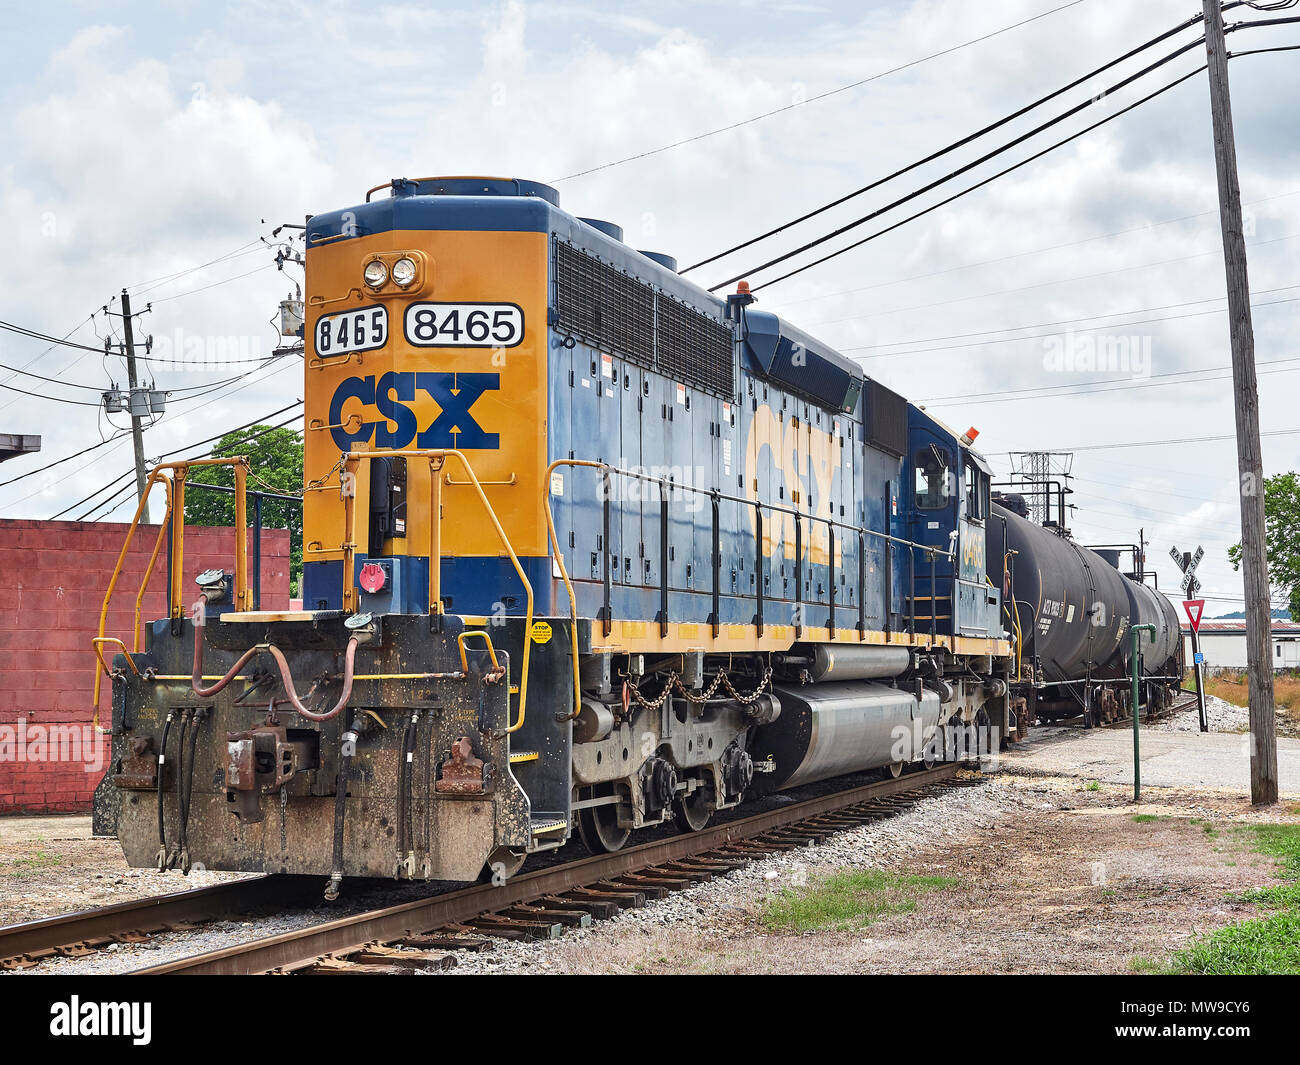
<svg viewBox="0 0 1300 1065">
<path fill-rule="evenodd" d="M 108 737 L 90 731 L 96 668 L 90 641 L 126 529 L 107 521 L 0 520 L 0 814 L 90 809 L 108 767 Z M 156 525 L 136 531 L 109 606 L 104 635 L 127 646 L 135 596 L 156 537 Z M 194 577 L 214 567 L 234 567 L 234 533 L 186 528 L 186 603 L 195 598 Z M 261 606 L 289 606 L 283 529 L 261 534 Z M 140 619 L 148 623 L 166 612 L 164 541 Z M 105 648 L 109 661 L 113 650 Z M 110 687 L 104 680 L 100 723 L 107 727 Z M 46 741 L 52 728 L 65 737 L 61 743 Z"/>
</svg>

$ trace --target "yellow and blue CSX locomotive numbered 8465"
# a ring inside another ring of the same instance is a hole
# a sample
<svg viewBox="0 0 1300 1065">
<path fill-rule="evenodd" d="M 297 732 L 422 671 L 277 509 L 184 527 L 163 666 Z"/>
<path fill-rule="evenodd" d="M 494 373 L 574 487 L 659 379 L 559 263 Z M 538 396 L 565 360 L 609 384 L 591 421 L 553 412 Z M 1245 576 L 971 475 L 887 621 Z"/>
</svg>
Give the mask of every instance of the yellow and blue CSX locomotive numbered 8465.
<svg viewBox="0 0 1300 1065">
<path fill-rule="evenodd" d="M 233 568 L 96 641 L 133 865 L 510 875 L 1009 731 L 972 433 L 545 185 L 395 179 L 306 260 L 303 609 L 237 499 Z"/>
</svg>

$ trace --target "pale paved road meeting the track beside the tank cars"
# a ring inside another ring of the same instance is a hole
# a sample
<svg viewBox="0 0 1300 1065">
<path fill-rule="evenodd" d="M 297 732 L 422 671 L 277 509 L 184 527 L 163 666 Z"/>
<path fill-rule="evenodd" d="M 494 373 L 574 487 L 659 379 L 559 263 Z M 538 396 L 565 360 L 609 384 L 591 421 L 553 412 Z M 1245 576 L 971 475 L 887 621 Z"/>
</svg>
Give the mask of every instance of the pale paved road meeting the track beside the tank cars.
<svg viewBox="0 0 1300 1065">
<path fill-rule="evenodd" d="M 1226 732 L 1143 732 L 1141 783 L 1157 788 L 1222 788 L 1249 793 L 1251 737 Z M 1132 784 L 1131 730 L 1035 730 L 1030 743 L 1001 756 L 1013 771 L 1079 776 Z M 1278 782 L 1300 797 L 1300 740 L 1278 740 Z"/>
</svg>

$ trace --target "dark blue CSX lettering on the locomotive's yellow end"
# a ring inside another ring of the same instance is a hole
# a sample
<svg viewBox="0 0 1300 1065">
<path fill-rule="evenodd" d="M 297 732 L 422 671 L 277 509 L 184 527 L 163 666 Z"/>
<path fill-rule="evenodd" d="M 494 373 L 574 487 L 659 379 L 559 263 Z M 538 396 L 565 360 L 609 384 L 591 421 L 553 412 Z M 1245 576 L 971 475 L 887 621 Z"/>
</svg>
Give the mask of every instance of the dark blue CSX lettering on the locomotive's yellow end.
<svg viewBox="0 0 1300 1065">
<path fill-rule="evenodd" d="M 348 377 L 334 389 L 329 402 L 329 424 L 334 427 L 330 436 L 341 451 L 350 451 L 354 443 L 400 450 L 412 441 L 417 447 L 495 450 L 500 447 L 500 436 L 484 432 L 469 408 L 485 391 L 499 388 L 499 373 L 403 372 L 385 373 L 378 381 L 373 375 Z M 437 417 L 422 429 L 408 406 L 420 393 L 438 404 Z M 348 399 L 374 407 L 381 420 L 358 425 L 358 415 L 343 415 Z"/>
</svg>

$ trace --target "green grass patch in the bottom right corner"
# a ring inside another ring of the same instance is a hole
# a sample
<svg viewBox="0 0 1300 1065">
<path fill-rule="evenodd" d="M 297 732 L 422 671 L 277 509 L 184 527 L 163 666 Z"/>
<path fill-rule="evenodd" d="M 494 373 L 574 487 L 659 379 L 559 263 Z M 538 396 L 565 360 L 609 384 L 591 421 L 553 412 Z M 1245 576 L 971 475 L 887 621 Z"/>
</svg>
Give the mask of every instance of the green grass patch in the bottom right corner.
<svg viewBox="0 0 1300 1065">
<path fill-rule="evenodd" d="M 1193 940 L 1174 954 L 1171 971 L 1300 975 L 1300 824 L 1248 824 L 1239 831 L 1253 836 L 1254 850 L 1277 860 L 1282 883 L 1240 897 L 1269 912 Z"/>
</svg>

